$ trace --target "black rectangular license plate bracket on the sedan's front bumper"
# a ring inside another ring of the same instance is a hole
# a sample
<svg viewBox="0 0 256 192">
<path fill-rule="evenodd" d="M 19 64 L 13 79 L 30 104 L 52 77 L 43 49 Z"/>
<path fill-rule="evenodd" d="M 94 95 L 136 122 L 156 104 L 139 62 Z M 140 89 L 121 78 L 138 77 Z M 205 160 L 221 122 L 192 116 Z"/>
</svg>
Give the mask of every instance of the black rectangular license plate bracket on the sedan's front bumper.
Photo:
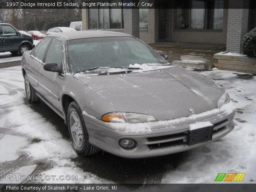
<svg viewBox="0 0 256 192">
<path fill-rule="evenodd" d="M 212 140 L 213 125 L 191 129 L 189 132 L 188 145 Z"/>
</svg>

